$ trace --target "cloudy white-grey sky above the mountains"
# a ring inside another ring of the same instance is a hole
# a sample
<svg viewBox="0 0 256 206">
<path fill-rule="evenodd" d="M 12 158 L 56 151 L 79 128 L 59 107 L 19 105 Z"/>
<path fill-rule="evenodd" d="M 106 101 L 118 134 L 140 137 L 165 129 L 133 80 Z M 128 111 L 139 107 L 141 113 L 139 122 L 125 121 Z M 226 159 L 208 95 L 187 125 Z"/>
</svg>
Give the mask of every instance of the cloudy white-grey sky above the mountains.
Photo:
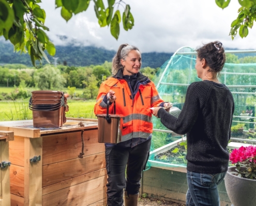
<svg viewBox="0 0 256 206">
<path fill-rule="evenodd" d="M 100 28 L 93 1 L 87 11 L 73 16 L 68 23 L 62 19 L 61 10 L 55 9 L 54 2 L 43 0 L 41 7 L 47 13 L 48 35 L 56 45 L 76 42 L 117 50 L 120 44 L 129 43 L 138 46 L 143 53 L 170 53 L 182 46 L 196 48 L 219 40 L 228 48 L 256 49 L 256 25 L 249 29 L 247 38 L 237 35 L 232 41 L 229 36 L 230 25 L 240 7 L 237 0 L 232 0 L 224 10 L 215 0 L 126 0 L 131 7 L 134 27 L 129 31 L 122 28 L 118 41 L 111 36 L 110 28 Z M 123 7 L 120 9 L 123 13 Z M 63 41 L 58 36 L 68 38 Z"/>
</svg>

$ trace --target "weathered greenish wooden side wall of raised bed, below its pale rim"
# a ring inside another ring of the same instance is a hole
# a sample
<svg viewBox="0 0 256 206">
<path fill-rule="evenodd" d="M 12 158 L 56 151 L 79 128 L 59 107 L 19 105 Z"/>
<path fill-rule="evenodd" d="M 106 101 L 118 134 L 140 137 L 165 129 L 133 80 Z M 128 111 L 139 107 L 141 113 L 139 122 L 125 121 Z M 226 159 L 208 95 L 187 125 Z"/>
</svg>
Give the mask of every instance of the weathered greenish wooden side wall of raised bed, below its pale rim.
<svg viewBox="0 0 256 206">
<path fill-rule="evenodd" d="M 186 204 L 187 174 L 151 167 L 143 172 L 142 194 L 148 197 Z M 218 185 L 220 206 L 231 206 L 224 181 Z"/>
</svg>

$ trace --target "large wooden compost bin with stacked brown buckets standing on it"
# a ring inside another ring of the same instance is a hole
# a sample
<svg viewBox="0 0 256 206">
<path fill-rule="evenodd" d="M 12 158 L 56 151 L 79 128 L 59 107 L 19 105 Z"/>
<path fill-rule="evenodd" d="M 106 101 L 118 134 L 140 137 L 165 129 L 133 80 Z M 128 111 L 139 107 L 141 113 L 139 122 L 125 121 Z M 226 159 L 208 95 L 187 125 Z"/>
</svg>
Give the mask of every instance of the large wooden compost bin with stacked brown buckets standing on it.
<svg viewBox="0 0 256 206">
<path fill-rule="evenodd" d="M 106 205 L 105 149 L 95 121 L 67 119 L 56 130 L 35 129 L 32 120 L 0 122 L 0 130 L 14 132 L 11 205 Z M 79 158 L 82 130 L 84 155 Z"/>
</svg>

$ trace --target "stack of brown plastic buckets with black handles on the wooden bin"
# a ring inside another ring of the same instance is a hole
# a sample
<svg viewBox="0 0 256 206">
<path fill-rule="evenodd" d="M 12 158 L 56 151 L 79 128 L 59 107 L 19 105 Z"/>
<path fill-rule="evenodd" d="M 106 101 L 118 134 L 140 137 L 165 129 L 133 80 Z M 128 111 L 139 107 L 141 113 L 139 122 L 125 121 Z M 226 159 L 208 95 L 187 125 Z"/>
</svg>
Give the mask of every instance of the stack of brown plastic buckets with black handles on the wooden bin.
<svg viewBox="0 0 256 206">
<path fill-rule="evenodd" d="M 60 91 L 33 91 L 29 100 L 33 111 L 33 126 L 39 128 L 58 128 L 66 122 L 67 99 Z"/>
</svg>

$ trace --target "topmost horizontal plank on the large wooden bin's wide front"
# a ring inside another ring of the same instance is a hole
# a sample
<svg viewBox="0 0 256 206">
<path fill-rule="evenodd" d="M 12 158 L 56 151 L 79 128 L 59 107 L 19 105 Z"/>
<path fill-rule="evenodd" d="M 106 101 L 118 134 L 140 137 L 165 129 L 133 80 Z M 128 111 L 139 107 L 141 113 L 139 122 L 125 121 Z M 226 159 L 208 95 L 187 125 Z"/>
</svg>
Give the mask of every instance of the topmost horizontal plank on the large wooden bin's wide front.
<svg viewBox="0 0 256 206">
<path fill-rule="evenodd" d="M 84 157 L 105 151 L 104 144 L 98 143 L 98 130 L 83 132 Z M 42 165 L 78 158 L 82 151 L 81 131 L 43 136 Z"/>
</svg>

